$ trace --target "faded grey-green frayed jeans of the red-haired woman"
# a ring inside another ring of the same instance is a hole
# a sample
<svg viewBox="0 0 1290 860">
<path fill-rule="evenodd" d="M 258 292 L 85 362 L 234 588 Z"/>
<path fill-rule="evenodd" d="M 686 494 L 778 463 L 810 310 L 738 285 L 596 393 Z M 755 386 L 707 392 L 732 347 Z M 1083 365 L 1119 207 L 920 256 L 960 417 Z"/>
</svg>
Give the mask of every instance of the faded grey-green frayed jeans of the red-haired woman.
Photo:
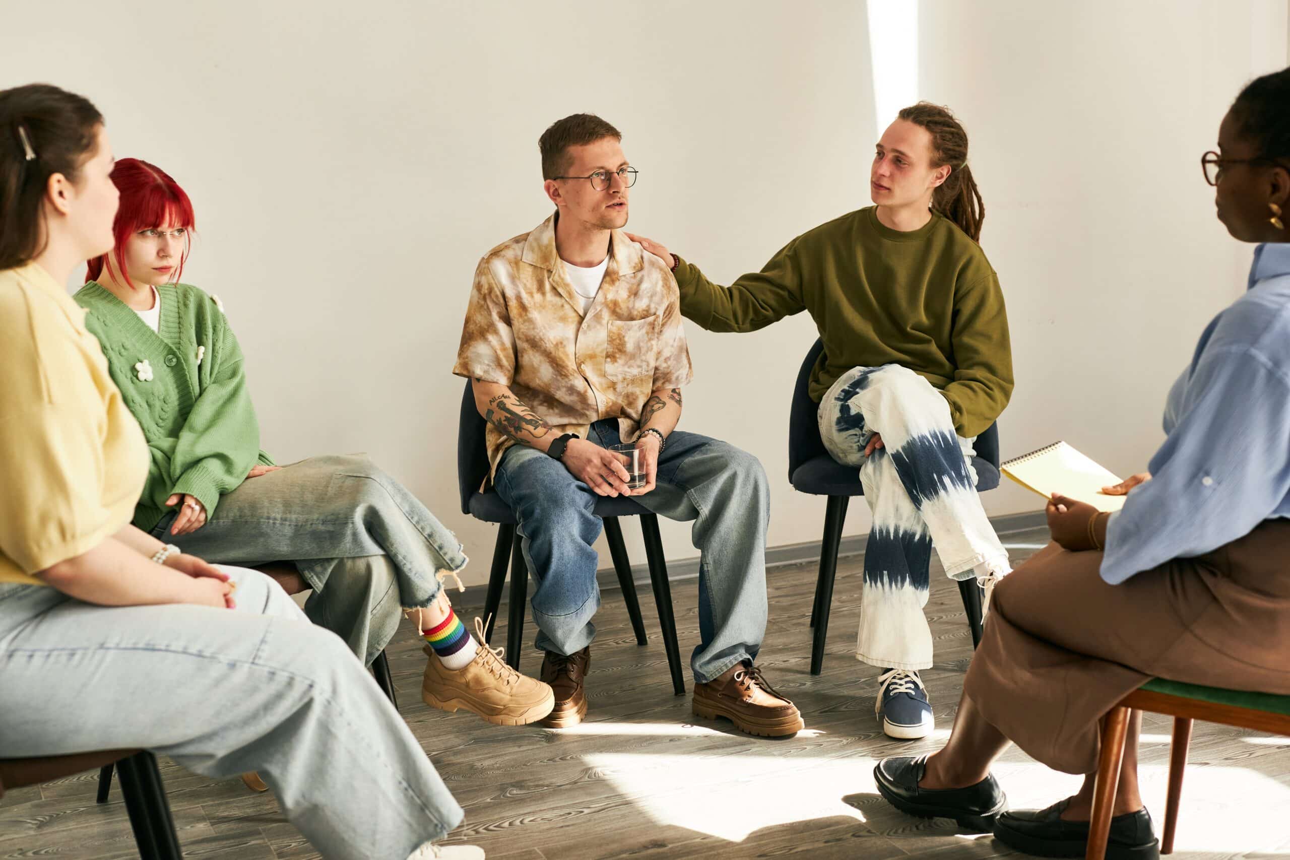
<svg viewBox="0 0 1290 860">
<path fill-rule="evenodd" d="M 152 535 L 206 561 L 295 562 L 313 589 L 304 614 L 369 665 L 399 629 L 401 609 L 439 596 L 435 574 L 466 566 L 453 533 L 362 455 L 313 456 L 248 478 L 187 535 L 169 534 L 173 522 L 166 514 Z"/>
</svg>

